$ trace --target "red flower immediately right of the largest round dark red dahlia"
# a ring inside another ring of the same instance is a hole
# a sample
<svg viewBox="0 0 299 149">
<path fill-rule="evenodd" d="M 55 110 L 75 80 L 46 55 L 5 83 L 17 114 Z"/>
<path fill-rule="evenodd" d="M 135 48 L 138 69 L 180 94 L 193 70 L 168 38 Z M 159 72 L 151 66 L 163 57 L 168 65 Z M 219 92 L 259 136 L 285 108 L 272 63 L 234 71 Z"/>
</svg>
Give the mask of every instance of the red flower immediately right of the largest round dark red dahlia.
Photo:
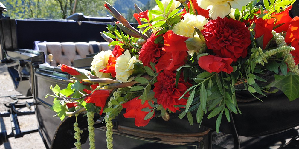
<svg viewBox="0 0 299 149">
<path fill-rule="evenodd" d="M 254 27 L 254 32 L 255 32 L 255 38 L 259 38 L 263 36 L 263 49 L 266 48 L 266 45 L 268 42 L 272 39 L 272 30 L 274 27 L 274 19 L 262 19 L 262 18 L 257 18 L 254 16 L 254 19 L 251 20 L 251 23 L 255 23 Z"/>
</svg>

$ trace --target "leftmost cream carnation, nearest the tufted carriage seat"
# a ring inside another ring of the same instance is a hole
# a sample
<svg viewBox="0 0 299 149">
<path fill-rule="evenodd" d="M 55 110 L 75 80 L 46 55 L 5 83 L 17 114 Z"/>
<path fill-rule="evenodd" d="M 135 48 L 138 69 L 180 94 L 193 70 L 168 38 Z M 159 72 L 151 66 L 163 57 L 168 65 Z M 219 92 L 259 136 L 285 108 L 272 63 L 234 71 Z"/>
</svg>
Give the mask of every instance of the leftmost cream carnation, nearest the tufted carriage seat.
<svg viewBox="0 0 299 149">
<path fill-rule="evenodd" d="M 100 69 L 107 67 L 107 63 L 110 55 L 112 55 L 111 50 L 101 51 L 99 54 L 94 56 L 94 59 L 91 62 L 90 70 L 94 70 L 95 75 L 99 78 L 109 78 L 110 74 L 99 72 Z M 112 55 L 113 56 L 113 55 Z"/>
</svg>

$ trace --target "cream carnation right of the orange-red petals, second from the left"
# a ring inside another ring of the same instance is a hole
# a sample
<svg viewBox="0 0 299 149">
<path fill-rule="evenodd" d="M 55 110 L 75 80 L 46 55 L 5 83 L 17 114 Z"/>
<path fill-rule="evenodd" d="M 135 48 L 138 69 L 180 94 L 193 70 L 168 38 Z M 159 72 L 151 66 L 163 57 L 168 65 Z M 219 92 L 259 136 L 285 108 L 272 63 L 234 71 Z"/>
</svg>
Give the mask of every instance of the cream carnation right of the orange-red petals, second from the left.
<svg viewBox="0 0 299 149">
<path fill-rule="evenodd" d="M 140 62 L 136 59 L 135 56 L 132 56 L 129 52 L 129 50 L 126 50 L 123 55 L 120 55 L 115 60 L 115 72 L 116 72 L 116 80 L 118 82 L 130 82 L 134 79 L 134 77 L 131 77 L 129 80 L 128 78 L 133 74 L 134 69 L 134 63 Z"/>
</svg>

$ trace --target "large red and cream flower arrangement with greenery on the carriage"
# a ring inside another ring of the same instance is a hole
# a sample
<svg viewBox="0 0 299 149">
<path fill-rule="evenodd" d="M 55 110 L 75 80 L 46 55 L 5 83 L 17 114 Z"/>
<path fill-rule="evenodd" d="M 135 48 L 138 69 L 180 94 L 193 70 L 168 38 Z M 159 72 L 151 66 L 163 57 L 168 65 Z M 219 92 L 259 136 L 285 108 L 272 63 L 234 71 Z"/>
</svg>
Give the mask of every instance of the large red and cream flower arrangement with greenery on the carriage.
<svg viewBox="0 0 299 149">
<path fill-rule="evenodd" d="M 257 2 L 156 0 L 152 10 L 135 5 L 139 30 L 106 3 L 119 20 L 101 33 L 113 49 L 95 55 L 91 71 L 62 65 L 74 78 L 66 80 L 66 89 L 51 86 L 54 95 L 47 96 L 55 97 L 53 110 L 61 120 L 85 111 L 89 121 L 95 113 L 104 116 L 107 147 L 112 148 L 111 120 L 123 108 L 123 116 L 134 118 L 136 126 L 180 112 L 190 125 L 193 114 L 199 124 L 203 117 L 218 117 L 219 132 L 222 117 L 230 121 L 230 112 L 241 113 L 239 90 L 257 99 L 257 94 L 281 90 L 290 101 L 297 99 L 299 17 L 289 16 L 294 1 L 264 1 L 265 8 Z M 274 80 L 265 80 L 266 72 Z M 243 88 L 237 89 L 239 84 Z M 80 148 L 80 129 L 74 126 Z"/>
</svg>

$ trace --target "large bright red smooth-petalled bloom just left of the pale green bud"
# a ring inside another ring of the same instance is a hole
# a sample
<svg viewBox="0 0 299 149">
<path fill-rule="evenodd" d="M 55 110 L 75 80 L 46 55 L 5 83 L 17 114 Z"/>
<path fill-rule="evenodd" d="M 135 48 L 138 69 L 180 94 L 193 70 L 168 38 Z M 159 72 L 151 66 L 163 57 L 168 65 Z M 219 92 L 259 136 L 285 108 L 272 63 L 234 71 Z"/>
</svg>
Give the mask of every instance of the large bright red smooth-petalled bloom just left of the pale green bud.
<svg viewBox="0 0 299 149">
<path fill-rule="evenodd" d="M 164 50 L 166 53 L 158 60 L 158 64 L 155 66 L 157 72 L 161 70 L 173 71 L 180 66 L 186 64 L 187 61 L 187 47 L 185 41 L 189 37 L 175 34 L 172 30 L 167 31 L 164 35 Z"/>
</svg>

